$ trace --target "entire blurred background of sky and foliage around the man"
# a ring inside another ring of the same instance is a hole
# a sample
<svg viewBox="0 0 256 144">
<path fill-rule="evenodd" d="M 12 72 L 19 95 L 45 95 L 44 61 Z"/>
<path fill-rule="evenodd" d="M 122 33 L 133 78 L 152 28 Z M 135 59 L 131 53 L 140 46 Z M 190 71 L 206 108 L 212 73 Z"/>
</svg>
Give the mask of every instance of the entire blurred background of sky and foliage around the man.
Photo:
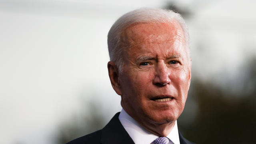
<svg viewBox="0 0 256 144">
<path fill-rule="evenodd" d="M 197 144 L 253 144 L 256 2 L 0 0 L 0 143 L 64 144 L 121 110 L 107 34 L 140 7 L 172 9 L 190 31 L 192 84 L 178 119 Z"/>
</svg>

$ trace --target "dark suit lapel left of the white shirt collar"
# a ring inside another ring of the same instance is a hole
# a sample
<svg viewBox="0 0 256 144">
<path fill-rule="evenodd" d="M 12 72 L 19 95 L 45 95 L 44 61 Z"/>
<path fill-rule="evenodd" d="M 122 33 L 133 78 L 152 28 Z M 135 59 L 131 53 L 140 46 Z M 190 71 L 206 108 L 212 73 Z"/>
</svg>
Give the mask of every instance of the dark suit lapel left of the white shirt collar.
<svg viewBox="0 0 256 144">
<path fill-rule="evenodd" d="M 118 112 L 102 129 L 100 142 L 102 144 L 134 144 L 132 138 L 126 132 L 118 119 Z"/>
</svg>

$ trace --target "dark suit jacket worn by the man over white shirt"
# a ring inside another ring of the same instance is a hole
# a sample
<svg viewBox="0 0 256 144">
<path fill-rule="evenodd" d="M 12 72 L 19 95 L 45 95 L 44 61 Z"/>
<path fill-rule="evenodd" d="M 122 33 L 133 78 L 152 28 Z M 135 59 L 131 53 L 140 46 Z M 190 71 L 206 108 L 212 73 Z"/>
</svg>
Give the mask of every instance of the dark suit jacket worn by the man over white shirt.
<svg viewBox="0 0 256 144">
<path fill-rule="evenodd" d="M 102 129 L 86 136 L 82 136 L 67 144 L 134 144 L 132 138 L 126 132 L 118 119 L 118 112 Z M 189 142 L 179 132 L 180 144 L 194 144 Z"/>
</svg>

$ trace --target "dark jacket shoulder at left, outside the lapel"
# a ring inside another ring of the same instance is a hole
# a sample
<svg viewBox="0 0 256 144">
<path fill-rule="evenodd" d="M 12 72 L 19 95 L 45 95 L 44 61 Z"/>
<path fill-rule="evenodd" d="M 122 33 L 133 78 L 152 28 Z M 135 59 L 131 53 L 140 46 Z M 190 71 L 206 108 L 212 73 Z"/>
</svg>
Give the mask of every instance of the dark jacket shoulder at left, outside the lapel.
<svg viewBox="0 0 256 144">
<path fill-rule="evenodd" d="M 76 138 L 66 144 L 100 144 L 102 130 Z"/>
</svg>

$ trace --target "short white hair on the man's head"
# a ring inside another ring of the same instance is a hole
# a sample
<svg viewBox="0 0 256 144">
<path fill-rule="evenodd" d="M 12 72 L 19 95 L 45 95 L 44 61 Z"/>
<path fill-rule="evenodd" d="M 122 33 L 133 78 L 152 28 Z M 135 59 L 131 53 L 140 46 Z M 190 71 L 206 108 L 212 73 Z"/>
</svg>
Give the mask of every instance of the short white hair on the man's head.
<svg viewBox="0 0 256 144">
<path fill-rule="evenodd" d="M 115 62 L 119 71 L 122 71 L 122 67 L 124 66 L 122 55 L 126 46 L 121 41 L 121 34 L 130 25 L 136 23 L 170 23 L 173 22 L 173 20 L 176 20 L 182 27 L 187 54 L 188 57 L 190 57 L 188 28 L 180 14 L 175 13 L 172 10 L 140 8 L 124 14 L 118 18 L 110 28 L 108 32 L 108 52 L 110 60 Z"/>
</svg>

